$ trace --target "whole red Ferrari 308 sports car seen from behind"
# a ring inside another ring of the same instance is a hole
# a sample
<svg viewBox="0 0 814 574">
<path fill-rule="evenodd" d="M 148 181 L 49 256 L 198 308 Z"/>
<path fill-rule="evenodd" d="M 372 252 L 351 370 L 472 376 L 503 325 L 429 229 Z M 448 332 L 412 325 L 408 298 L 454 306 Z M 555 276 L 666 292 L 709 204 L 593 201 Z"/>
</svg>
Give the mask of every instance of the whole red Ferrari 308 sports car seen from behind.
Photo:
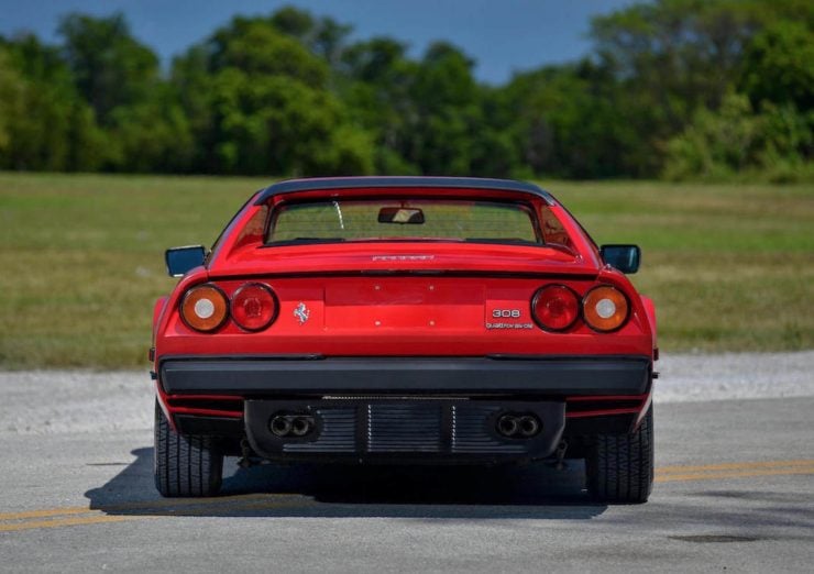
<svg viewBox="0 0 814 574">
<path fill-rule="evenodd" d="M 153 320 L 155 484 L 212 496 L 224 455 L 499 464 L 585 459 L 606 503 L 653 477 L 652 302 L 539 187 L 354 177 L 257 191 Z"/>
</svg>

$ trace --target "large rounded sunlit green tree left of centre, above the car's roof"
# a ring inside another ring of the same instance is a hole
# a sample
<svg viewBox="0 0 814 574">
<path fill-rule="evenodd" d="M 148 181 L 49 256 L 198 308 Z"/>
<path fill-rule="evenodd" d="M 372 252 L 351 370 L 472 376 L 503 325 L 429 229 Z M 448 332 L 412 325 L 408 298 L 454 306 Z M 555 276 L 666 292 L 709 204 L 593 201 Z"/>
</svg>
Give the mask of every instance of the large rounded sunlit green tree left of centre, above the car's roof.
<svg viewBox="0 0 814 574">
<path fill-rule="evenodd" d="M 175 89 L 205 147 L 196 161 L 216 173 L 370 173 L 371 137 L 329 77 L 320 57 L 270 19 L 234 19 L 174 64 Z"/>
</svg>

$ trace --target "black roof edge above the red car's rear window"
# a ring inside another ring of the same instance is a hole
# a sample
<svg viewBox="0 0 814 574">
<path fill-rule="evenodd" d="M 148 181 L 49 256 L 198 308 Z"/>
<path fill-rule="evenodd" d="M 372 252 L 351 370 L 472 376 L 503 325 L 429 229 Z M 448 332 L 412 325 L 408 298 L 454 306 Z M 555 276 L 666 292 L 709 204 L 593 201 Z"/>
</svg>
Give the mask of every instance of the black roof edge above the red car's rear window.
<svg viewBox="0 0 814 574">
<path fill-rule="evenodd" d="M 364 188 L 458 188 L 458 189 L 493 189 L 498 191 L 522 191 L 542 198 L 548 205 L 554 203 L 554 198 L 534 184 L 515 181 L 514 179 L 491 179 L 485 177 L 407 177 L 407 176 L 367 176 L 367 177 L 315 177 L 308 179 L 289 179 L 273 184 L 260 191 L 254 205 L 265 203 L 270 198 L 295 191 L 310 191 L 317 189 L 364 189 Z"/>
</svg>

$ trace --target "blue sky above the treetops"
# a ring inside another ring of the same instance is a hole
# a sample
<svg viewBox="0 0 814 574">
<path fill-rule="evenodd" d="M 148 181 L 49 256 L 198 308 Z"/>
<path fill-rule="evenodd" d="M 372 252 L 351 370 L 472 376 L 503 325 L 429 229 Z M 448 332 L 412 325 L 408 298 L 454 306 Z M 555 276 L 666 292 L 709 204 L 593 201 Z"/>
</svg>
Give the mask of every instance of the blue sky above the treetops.
<svg viewBox="0 0 814 574">
<path fill-rule="evenodd" d="M 353 37 L 387 35 L 418 56 L 448 40 L 476 60 L 475 75 L 501 84 L 513 71 L 573 60 L 591 49 L 592 15 L 635 0 L 0 0 L 0 34 L 20 30 L 55 42 L 59 16 L 121 10 L 133 34 L 167 63 L 234 14 L 267 14 L 285 4 L 352 24 Z"/>
</svg>

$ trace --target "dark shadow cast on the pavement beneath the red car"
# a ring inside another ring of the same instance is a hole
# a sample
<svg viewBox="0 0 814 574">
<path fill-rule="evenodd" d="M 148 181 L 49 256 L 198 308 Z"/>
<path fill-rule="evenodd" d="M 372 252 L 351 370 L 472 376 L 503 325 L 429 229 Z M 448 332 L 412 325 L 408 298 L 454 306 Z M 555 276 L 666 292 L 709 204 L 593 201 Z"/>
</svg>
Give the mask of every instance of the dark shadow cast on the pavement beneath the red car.
<svg viewBox="0 0 814 574">
<path fill-rule="evenodd" d="M 90 508 L 125 516 L 590 519 L 603 514 L 583 489 L 584 465 L 349 466 L 224 461 L 221 496 L 162 498 L 153 449 L 85 493 Z"/>
</svg>

